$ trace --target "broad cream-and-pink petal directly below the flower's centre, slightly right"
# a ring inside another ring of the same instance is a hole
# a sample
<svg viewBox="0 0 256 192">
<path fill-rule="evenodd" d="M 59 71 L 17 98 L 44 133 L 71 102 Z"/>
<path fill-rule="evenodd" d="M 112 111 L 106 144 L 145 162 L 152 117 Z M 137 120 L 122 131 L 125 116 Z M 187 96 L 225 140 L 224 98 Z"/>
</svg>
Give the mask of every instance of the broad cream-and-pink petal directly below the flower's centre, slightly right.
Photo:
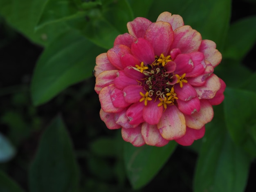
<svg viewBox="0 0 256 192">
<path fill-rule="evenodd" d="M 182 112 L 175 106 L 167 107 L 157 124 L 160 134 L 167 140 L 180 138 L 186 133 L 186 122 Z"/>
</svg>

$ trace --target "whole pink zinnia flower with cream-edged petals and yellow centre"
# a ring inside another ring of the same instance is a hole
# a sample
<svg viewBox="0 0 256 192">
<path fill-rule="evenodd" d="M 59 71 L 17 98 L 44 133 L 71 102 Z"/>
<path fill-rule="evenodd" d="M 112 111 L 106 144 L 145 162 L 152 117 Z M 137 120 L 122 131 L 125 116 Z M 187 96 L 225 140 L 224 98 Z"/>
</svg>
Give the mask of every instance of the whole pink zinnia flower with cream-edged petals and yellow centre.
<svg viewBox="0 0 256 192">
<path fill-rule="evenodd" d="M 96 58 L 102 121 L 135 146 L 191 145 L 224 99 L 226 85 L 213 74 L 222 55 L 179 15 L 135 18 L 127 27 Z"/>
</svg>

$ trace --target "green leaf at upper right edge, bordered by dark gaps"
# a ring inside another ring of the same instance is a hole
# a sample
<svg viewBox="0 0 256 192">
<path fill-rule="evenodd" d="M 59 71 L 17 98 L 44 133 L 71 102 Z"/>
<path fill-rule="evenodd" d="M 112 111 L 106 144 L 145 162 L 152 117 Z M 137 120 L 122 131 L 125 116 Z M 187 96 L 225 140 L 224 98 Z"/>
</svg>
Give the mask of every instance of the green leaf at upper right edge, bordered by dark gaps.
<svg viewBox="0 0 256 192">
<path fill-rule="evenodd" d="M 230 25 L 224 58 L 242 60 L 256 42 L 256 16 L 243 18 Z"/>
</svg>

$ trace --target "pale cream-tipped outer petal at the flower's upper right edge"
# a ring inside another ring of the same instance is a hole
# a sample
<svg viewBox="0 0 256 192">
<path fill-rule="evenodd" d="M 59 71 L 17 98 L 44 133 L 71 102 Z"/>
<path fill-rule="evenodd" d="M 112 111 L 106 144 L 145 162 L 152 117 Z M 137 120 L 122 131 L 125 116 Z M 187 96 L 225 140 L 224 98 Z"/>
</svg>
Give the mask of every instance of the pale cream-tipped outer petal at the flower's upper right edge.
<svg viewBox="0 0 256 192">
<path fill-rule="evenodd" d="M 204 54 L 205 60 L 208 60 L 211 65 L 216 67 L 222 60 L 220 51 L 216 49 L 216 43 L 211 40 L 202 40 L 199 51 Z"/>
</svg>

